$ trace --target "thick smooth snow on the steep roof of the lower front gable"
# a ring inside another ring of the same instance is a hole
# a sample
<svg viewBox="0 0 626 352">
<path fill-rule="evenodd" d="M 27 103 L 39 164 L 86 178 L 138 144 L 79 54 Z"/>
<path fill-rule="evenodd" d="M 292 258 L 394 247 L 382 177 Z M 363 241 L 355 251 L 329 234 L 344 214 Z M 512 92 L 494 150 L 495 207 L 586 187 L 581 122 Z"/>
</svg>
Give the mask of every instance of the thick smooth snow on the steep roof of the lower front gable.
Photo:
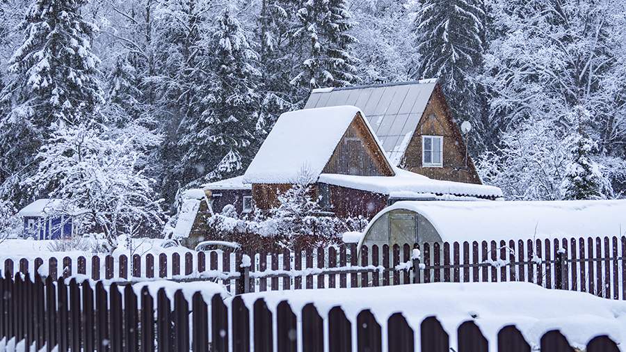
<svg viewBox="0 0 626 352">
<path fill-rule="evenodd" d="M 248 166 L 243 182 L 294 183 L 303 170 L 317 177 L 357 113 L 360 110 L 355 106 L 283 113 Z M 363 120 L 371 131 L 367 120 Z M 380 146 L 378 140 L 376 143 Z"/>
</svg>

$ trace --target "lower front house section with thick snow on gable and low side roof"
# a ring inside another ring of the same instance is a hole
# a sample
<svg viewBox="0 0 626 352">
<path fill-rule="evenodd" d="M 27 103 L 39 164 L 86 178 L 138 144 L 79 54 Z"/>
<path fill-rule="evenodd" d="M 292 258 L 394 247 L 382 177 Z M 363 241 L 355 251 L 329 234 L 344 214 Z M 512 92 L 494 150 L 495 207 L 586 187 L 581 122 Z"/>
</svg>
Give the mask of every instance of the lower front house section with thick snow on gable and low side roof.
<svg viewBox="0 0 626 352">
<path fill-rule="evenodd" d="M 293 184 L 314 184 L 329 213 L 371 218 L 397 200 L 501 198 L 500 189 L 441 181 L 401 170 L 355 106 L 283 113 L 241 179 L 256 209 L 277 205 Z"/>
</svg>

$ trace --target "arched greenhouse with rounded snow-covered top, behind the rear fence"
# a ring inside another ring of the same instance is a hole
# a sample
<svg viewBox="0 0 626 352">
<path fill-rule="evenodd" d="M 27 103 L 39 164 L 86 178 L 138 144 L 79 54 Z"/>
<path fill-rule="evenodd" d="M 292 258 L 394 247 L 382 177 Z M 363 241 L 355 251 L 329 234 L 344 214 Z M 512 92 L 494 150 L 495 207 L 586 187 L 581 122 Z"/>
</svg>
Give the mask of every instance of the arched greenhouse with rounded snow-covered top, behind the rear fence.
<svg viewBox="0 0 626 352">
<path fill-rule="evenodd" d="M 626 200 L 396 202 L 360 245 L 623 236 L 625 214 Z"/>
</svg>

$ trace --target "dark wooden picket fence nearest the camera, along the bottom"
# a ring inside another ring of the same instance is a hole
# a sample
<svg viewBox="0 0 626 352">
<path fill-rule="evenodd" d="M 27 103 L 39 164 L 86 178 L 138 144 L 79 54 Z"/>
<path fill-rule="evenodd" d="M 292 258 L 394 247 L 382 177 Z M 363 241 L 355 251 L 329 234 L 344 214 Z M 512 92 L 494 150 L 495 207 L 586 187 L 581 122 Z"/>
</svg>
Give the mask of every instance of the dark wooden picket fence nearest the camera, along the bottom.
<svg viewBox="0 0 626 352">
<path fill-rule="evenodd" d="M 164 289 L 152 296 L 144 287 L 137 296 L 131 285 L 120 288 L 116 283 L 105 287 L 102 281 L 79 284 L 75 278 L 69 285 L 65 280 L 55 282 L 51 276 L 42 280 L 35 275 L 34 281 L 29 275 L 0 278 L 0 341 L 24 340 L 26 346 L 34 345 L 37 351 L 57 347 L 60 352 L 226 352 L 229 344 L 234 352 L 250 351 L 252 344 L 259 352 L 295 352 L 301 336 L 304 352 L 353 351 L 353 341 L 358 352 L 379 352 L 383 344 L 394 352 L 450 351 L 449 335 L 436 317 L 428 317 L 414 327 L 403 314 L 393 314 L 386 324 L 385 341 L 380 321 L 367 309 L 351 321 L 340 306 L 322 317 L 312 302 L 303 307 L 298 322 L 287 301 L 272 310 L 259 298 L 251 318 L 241 296 L 225 301 L 217 294 L 207 302 L 198 291 L 188 302 L 178 290 L 170 301 Z M 458 352 L 488 351 L 489 342 L 471 320 L 459 321 L 457 337 Z M 499 352 L 531 351 L 515 326 L 501 328 L 497 341 L 491 343 L 497 344 Z M 539 347 L 545 352 L 574 352 L 558 330 L 545 333 Z M 595 337 L 586 346 L 586 352 L 618 351 L 607 336 Z"/>
</svg>

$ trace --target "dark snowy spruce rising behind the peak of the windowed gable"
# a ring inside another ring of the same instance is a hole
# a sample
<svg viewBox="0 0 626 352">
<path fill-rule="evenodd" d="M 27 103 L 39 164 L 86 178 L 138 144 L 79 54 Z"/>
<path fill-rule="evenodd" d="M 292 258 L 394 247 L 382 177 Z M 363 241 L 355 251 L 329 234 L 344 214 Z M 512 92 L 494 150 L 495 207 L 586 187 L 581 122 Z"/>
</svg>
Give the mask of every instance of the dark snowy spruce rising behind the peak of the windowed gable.
<svg viewBox="0 0 626 352">
<path fill-rule="evenodd" d="M 479 114 L 476 84 L 483 52 L 481 0 L 426 0 L 415 18 L 417 78 L 439 77 L 454 118 Z"/>
</svg>

